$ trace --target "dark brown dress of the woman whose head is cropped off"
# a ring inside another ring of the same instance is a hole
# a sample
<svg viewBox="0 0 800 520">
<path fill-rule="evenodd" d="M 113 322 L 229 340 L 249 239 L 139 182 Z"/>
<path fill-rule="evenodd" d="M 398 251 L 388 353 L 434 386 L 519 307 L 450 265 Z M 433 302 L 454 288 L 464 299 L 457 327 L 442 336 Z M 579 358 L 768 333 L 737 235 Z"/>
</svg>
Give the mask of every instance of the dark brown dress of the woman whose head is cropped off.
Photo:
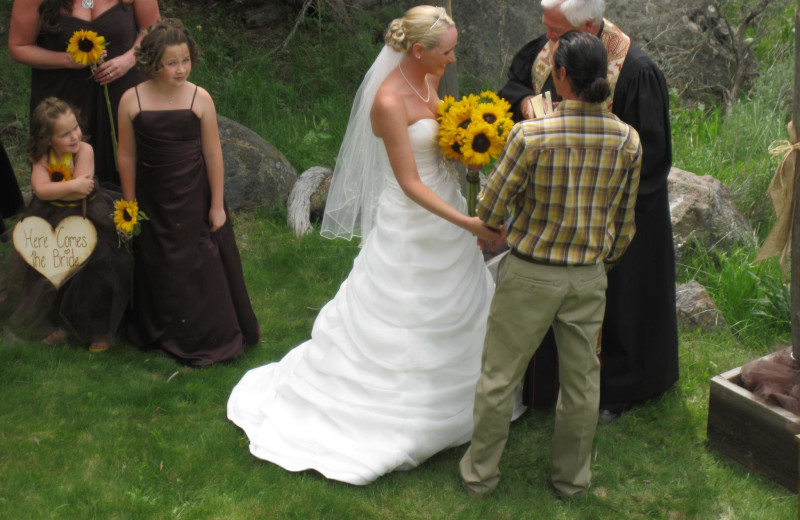
<svg viewBox="0 0 800 520">
<path fill-rule="evenodd" d="M 131 48 L 139 28 L 136 26 L 133 7 L 119 4 L 111 7 L 91 21 L 62 15 L 58 32 L 39 34 L 36 44 L 44 49 L 64 52 L 69 39 L 77 30 L 95 31 L 108 42 L 106 60 L 116 58 Z M 111 124 L 106 108 L 103 87 L 91 77 L 89 67 L 83 69 L 33 69 L 31 73 L 31 113 L 36 105 L 48 96 L 55 96 L 75 106 L 80 111 L 83 133 L 89 136 L 94 148 L 94 172 L 103 184 L 119 188 L 119 173 L 111 144 Z M 126 90 L 145 80 L 135 67 L 121 78 L 108 84 L 109 101 L 117 128 L 117 107 Z"/>
</svg>

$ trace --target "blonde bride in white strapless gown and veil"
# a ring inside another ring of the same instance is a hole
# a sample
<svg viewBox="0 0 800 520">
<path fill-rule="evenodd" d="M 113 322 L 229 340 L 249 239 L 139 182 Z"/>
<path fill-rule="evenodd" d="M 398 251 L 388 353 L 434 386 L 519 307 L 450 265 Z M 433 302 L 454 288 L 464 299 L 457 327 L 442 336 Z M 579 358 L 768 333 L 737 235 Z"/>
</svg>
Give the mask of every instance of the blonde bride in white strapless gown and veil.
<svg viewBox="0 0 800 520">
<path fill-rule="evenodd" d="M 444 9 L 414 7 L 364 77 L 322 223 L 362 249 L 311 339 L 247 372 L 228 401 L 258 458 L 363 485 L 470 439 L 494 291 L 475 237 L 498 235 L 465 215 L 437 146 L 457 39 Z"/>
</svg>

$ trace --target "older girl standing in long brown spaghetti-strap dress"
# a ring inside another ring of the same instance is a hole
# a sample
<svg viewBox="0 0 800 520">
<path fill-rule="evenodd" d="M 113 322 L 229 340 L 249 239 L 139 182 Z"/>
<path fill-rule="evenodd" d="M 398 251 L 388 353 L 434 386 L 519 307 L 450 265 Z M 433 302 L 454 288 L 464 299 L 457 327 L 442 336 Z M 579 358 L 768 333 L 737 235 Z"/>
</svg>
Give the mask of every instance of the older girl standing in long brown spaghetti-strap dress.
<svg viewBox="0 0 800 520">
<path fill-rule="evenodd" d="M 134 241 L 130 339 L 187 365 L 233 358 L 260 329 L 223 202 L 214 102 L 187 78 L 195 42 L 179 20 L 155 24 L 137 49 L 150 79 L 120 102 L 126 199 L 150 220 Z"/>
</svg>

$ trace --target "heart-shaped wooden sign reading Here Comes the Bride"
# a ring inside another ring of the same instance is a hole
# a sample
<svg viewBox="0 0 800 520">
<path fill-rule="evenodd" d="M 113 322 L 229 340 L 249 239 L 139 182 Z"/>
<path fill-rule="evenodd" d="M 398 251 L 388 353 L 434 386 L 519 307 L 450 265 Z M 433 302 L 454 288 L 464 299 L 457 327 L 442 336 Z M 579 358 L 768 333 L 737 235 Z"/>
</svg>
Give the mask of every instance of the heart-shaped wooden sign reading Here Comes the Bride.
<svg viewBox="0 0 800 520">
<path fill-rule="evenodd" d="M 25 217 L 14 226 L 14 249 L 56 289 L 75 274 L 97 245 L 97 230 L 88 219 L 72 215 L 53 229 L 40 217 Z"/>
</svg>

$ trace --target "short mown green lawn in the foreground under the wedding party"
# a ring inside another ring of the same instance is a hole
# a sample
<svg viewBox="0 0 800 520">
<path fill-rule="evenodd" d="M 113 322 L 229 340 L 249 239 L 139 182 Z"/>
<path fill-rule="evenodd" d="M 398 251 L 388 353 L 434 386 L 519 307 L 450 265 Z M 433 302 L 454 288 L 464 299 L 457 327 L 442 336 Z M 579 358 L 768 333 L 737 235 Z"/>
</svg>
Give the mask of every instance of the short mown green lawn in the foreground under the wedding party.
<svg viewBox="0 0 800 520">
<path fill-rule="evenodd" d="M 731 335 L 681 336 L 681 379 L 662 398 L 601 425 L 588 496 L 550 491 L 553 411 L 512 425 L 498 490 L 469 498 L 464 447 L 366 487 L 291 473 L 252 457 L 226 419 L 249 368 L 309 337 L 358 252 L 296 238 L 281 215 L 235 219 L 263 328 L 241 358 L 201 369 L 118 344 L 0 347 L 0 518 L 763 518 L 796 516 L 796 496 L 707 448 L 709 380 L 763 355 Z M 8 245 L 3 244 L 7 249 Z"/>
</svg>

